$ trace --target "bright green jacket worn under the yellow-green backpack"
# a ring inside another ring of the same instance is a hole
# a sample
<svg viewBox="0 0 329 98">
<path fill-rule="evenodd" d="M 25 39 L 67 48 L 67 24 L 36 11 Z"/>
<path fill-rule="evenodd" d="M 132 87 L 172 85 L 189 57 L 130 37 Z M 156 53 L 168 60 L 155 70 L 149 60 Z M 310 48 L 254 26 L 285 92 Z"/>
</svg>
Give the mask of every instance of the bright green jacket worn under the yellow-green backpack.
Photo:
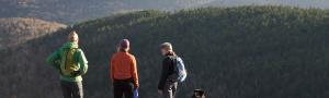
<svg viewBox="0 0 329 98">
<path fill-rule="evenodd" d="M 61 60 L 61 54 L 67 48 L 79 48 L 77 44 L 73 42 L 67 42 L 61 48 L 57 49 L 55 52 L 53 52 L 46 60 L 46 62 L 54 66 L 58 72 L 60 72 L 60 60 Z M 60 74 L 60 81 L 66 81 L 66 82 L 81 82 L 82 77 L 81 75 L 84 75 L 88 70 L 88 61 L 84 57 L 84 53 L 81 49 L 78 50 L 78 52 L 75 56 L 76 60 L 78 60 L 78 66 L 80 68 L 81 74 L 72 77 L 72 76 L 65 76 Z"/>
</svg>

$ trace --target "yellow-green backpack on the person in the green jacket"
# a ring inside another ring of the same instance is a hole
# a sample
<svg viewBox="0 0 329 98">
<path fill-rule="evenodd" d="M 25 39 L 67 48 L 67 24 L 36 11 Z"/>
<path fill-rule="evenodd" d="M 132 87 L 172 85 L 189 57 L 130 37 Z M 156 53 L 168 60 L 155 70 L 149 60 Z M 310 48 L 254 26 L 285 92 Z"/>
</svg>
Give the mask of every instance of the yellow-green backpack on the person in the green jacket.
<svg viewBox="0 0 329 98">
<path fill-rule="evenodd" d="M 64 49 L 60 62 L 60 73 L 63 75 L 72 76 L 72 72 L 78 71 L 80 69 L 75 57 L 78 51 L 78 48 Z"/>
</svg>

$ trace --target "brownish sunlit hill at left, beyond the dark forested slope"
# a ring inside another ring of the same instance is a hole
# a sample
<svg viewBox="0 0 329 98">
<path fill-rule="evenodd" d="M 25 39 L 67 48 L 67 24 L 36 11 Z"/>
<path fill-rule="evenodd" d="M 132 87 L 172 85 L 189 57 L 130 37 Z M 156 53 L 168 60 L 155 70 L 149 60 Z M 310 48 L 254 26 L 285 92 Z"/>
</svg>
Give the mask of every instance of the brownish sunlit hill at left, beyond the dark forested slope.
<svg viewBox="0 0 329 98">
<path fill-rule="evenodd" d="M 54 33 L 66 25 L 38 19 L 0 19 L 0 50 Z"/>
</svg>

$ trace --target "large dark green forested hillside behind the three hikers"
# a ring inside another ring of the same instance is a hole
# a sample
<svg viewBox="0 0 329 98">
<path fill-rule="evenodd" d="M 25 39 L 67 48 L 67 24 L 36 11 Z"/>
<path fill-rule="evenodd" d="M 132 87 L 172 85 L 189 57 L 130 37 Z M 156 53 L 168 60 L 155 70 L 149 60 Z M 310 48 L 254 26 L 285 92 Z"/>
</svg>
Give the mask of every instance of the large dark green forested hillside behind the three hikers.
<svg viewBox="0 0 329 98">
<path fill-rule="evenodd" d="M 282 7 L 140 11 L 75 25 L 89 60 L 87 98 L 111 98 L 109 59 L 132 41 L 140 98 L 157 98 L 159 44 L 170 41 L 189 70 L 178 98 L 203 88 L 207 98 L 327 98 L 329 11 Z M 58 73 L 45 58 L 70 29 L 0 52 L 0 96 L 59 98 Z M 22 51 L 23 50 L 23 51 Z M 2 89 L 5 88 L 5 89 Z"/>
</svg>

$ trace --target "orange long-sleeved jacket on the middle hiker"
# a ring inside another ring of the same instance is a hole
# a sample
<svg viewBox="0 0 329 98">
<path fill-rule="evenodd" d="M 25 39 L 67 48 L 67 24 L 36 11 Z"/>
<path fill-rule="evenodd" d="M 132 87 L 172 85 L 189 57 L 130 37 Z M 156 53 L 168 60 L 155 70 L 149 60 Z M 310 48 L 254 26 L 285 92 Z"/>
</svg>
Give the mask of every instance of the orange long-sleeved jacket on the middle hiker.
<svg viewBox="0 0 329 98">
<path fill-rule="evenodd" d="M 111 59 L 111 79 L 134 78 L 135 87 L 138 87 L 137 63 L 133 54 L 116 52 Z"/>
</svg>

